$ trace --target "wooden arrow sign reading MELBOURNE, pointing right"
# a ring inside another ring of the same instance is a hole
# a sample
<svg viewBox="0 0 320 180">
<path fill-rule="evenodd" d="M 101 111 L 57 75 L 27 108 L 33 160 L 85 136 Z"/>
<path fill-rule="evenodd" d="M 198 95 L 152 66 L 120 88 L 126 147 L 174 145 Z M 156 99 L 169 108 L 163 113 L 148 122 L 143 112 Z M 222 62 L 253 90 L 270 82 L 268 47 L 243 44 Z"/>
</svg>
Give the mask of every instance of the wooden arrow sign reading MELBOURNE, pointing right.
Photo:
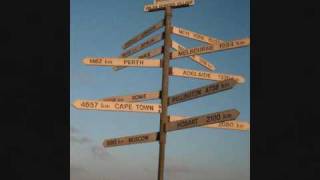
<svg viewBox="0 0 320 180">
<path fill-rule="evenodd" d="M 194 47 L 189 48 L 181 51 L 176 51 L 171 53 L 171 59 L 175 58 L 181 58 L 196 54 L 208 54 L 213 53 L 217 51 L 223 51 L 228 49 L 235 49 L 240 47 L 245 47 L 250 45 L 250 38 L 244 38 L 240 40 L 233 40 L 233 41 L 226 41 L 222 42 L 218 45 L 208 45 L 208 46 L 200 46 L 200 47 Z"/>
</svg>

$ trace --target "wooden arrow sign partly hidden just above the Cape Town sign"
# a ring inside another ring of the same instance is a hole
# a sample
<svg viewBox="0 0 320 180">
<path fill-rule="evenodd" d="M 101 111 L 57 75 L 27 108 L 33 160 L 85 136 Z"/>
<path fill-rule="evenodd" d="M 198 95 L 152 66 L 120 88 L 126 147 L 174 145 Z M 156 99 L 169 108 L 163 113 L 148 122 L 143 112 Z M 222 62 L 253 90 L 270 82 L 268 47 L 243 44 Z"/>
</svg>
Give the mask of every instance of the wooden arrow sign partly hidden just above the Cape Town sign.
<svg viewBox="0 0 320 180">
<path fill-rule="evenodd" d="M 152 99 L 159 99 L 160 92 L 145 92 L 132 94 L 127 96 L 112 96 L 108 98 L 99 99 L 100 101 L 112 101 L 112 102 L 140 102 Z"/>
</svg>

